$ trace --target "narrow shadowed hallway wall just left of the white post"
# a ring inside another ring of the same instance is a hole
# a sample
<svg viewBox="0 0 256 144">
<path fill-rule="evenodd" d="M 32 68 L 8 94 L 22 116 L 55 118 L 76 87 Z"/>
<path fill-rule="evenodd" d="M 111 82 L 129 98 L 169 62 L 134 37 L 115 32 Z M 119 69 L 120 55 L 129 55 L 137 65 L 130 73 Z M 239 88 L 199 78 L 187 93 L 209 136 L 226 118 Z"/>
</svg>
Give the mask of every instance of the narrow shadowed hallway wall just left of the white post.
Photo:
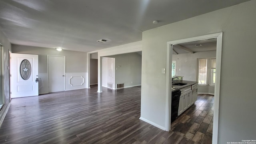
<svg viewBox="0 0 256 144">
<path fill-rule="evenodd" d="M 98 59 L 90 59 L 90 84 L 98 84 Z"/>
</svg>

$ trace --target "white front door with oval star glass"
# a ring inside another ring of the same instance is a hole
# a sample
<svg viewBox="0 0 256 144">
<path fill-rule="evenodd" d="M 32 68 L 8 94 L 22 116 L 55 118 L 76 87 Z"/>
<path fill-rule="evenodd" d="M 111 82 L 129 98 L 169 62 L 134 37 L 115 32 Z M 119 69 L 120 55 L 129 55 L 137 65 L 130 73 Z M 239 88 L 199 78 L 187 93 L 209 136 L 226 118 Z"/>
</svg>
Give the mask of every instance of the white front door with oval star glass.
<svg viewBox="0 0 256 144">
<path fill-rule="evenodd" d="M 11 98 L 38 96 L 38 55 L 10 54 Z"/>
</svg>

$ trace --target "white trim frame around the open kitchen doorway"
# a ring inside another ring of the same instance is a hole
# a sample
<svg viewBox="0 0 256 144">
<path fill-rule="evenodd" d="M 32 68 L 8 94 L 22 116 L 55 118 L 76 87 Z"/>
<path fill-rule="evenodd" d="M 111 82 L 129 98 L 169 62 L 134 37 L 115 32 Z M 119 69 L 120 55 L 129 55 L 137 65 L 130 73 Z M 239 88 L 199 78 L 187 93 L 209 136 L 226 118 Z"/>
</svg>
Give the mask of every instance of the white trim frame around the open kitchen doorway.
<svg viewBox="0 0 256 144">
<path fill-rule="evenodd" d="M 171 129 L 171 96 L 172 92 L 170 88 L 172 87 L 172 46 L 174 44 L 180 44 L 185 42 L 194 42 L 198 40 L 208 40 L 211 38 L 217 38 L 216 45 L 216 82 L 214 88 L 214 116 L 213 116 L 213 131 L 212 131 L 212 144 L 218 143 L 218 123 L 219 123 L 219 107 L 220 107 L 220 68 L 221 68 L 221 58 L 222 58 L 222 32 L 215 34 L 208 34 L 204 36 L 196 36 L 192 38 L 185 38 L 180 40 L 173 40 L 167 42 L 167 65 L 166 65 L 166 131 Z"/>
</svg>

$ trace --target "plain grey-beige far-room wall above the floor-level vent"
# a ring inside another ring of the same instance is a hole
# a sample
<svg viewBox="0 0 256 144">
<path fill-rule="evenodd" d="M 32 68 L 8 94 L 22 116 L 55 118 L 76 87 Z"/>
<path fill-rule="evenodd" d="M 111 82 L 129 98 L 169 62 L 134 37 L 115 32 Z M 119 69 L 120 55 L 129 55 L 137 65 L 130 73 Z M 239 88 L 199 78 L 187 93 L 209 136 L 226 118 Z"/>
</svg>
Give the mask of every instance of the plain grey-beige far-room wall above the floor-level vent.
<svg viewBox="0 0 256 144">
<path fill-rule="evenodd" d="M 140 54 L 134 52 L 109 57 L 115 58 L 115 84 L 124 83 L 124 88 L 141 85 Z"/>
</svg>

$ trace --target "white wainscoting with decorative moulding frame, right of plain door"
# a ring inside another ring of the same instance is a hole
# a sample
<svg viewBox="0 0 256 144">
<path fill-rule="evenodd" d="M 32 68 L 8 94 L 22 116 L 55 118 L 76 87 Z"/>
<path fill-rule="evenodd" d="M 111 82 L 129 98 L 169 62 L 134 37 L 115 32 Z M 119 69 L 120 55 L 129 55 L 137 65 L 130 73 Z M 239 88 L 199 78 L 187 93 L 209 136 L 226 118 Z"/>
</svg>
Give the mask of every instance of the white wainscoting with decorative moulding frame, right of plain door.
<svg viewBox="0 0 256 144">
<path fill-rule="evenodd" d="M 66 89 L 78 90 L 87 88 L 87 72 L 66 73 Z"/>
</svg>

